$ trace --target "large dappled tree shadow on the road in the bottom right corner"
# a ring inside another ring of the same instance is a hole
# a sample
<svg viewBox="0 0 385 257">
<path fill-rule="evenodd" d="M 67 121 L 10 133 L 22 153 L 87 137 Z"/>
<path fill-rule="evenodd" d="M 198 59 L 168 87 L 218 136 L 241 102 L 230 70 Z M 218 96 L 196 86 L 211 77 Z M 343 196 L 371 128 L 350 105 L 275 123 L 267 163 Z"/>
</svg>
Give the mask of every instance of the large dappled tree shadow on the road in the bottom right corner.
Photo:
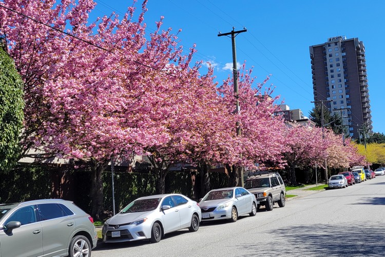
<svg viewBox="0 0 385 257">
<path fill-rule="evenodd" d="M 268 245 L 240 244 L 249 254 L 235 256 L 384 256 L 385 225 L 306 225 L 265 231 Z"/>
</svg>

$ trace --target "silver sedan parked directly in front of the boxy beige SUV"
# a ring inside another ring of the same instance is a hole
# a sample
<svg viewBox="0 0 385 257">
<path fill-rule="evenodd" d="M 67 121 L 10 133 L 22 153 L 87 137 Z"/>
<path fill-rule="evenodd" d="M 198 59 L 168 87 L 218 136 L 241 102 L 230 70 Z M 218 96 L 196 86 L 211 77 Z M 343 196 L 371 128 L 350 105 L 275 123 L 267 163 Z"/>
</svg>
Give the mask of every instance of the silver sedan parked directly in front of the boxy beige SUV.
<svg viewBox="0 0 385 257">
<path fill-rule="evenodd" d="M 255 195 L 243 187 L 227 187 L 209 191 L 199 202 L 202 221 L 230 220 L 238 216 L 257 213 L 258 201 Z"/>
</svg>

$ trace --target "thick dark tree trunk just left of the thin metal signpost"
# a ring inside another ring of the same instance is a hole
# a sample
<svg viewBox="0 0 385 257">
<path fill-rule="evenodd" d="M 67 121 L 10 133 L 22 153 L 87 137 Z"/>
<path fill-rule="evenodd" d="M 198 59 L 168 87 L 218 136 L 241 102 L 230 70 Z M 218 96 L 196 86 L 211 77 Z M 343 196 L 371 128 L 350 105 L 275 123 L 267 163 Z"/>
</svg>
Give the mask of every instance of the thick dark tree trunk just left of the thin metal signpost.
<svg viewBox="0 0 385 257">
<path fill-rule="evenodd" d="M 91 216 L 96 221 L 101 221 L 105 218 L 102 173 L 107 164 L 108 162 L 103 163 L 91 160 Z"/>
</svg>

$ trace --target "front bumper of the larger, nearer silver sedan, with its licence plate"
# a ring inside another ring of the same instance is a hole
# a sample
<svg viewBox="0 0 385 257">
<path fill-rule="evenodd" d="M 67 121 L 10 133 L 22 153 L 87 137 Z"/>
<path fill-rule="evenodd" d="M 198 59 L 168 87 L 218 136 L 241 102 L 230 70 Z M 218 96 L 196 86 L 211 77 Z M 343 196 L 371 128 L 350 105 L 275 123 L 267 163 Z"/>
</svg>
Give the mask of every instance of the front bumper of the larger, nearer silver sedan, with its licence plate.
<svg viewBox="0 0 385 257">
<path fill-rule="evenodd" d="M 118 229 L 103 226 L 102 235 L 105 243 L 119 243 L 137 241 L 151 238 L 151 224 L 149 225 L 126 225 Z"/>
</svg>

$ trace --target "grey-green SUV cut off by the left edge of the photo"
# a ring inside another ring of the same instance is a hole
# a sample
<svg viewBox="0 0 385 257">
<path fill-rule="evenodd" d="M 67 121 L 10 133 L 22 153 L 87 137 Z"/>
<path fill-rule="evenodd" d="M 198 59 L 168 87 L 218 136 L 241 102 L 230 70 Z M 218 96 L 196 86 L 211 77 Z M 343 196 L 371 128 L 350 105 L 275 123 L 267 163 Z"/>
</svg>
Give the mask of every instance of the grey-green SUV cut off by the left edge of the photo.
<svg viewBox="0 0 385 257">
<path fill-rule="evenodd" d="M 91 256 L 98 236 L 90 215 L 70 201 L 0 204 L 0 256 Z"/>
</svg>

